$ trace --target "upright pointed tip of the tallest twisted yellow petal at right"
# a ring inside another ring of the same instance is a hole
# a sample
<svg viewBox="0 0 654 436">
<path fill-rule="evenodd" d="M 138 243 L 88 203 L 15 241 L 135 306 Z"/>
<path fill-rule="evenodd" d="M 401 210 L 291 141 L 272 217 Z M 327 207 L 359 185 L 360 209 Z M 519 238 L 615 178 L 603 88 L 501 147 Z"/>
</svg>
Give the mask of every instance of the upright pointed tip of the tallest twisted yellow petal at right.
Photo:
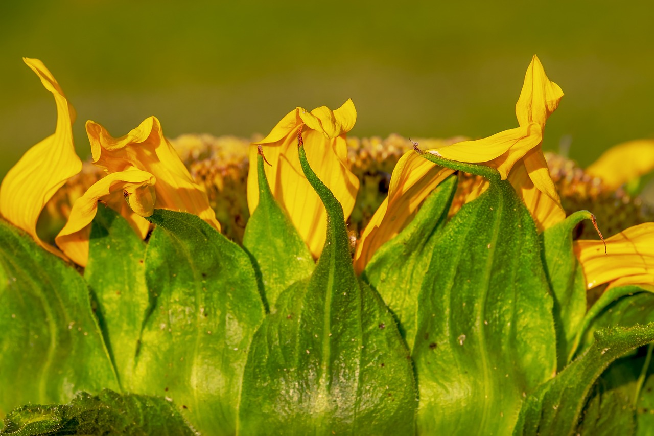
<svg viewBox="0 0 654 436">
<path fill-rule="evenodd" d="M 547 79 L 545 69 L 534 54 L 525 74 L 525 83 L 515 104 L 515 116 L 521 126 L 536 122 L 545 126 L 547 117 L 559 106 L 563 91 Z"/>
</svg>

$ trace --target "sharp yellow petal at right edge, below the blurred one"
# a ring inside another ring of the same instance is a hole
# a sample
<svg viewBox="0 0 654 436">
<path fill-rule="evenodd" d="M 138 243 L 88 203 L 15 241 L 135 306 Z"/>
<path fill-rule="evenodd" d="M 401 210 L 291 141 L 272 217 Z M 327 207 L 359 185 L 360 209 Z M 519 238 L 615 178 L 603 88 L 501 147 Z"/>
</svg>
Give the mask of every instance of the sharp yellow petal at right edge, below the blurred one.
<svg viewBox="0 0 654 436">
<path fill-rule="evenodd" d="M 611 236 L 606 240 L 606 254 L 600 240 L 578 240 L 574 247 L 588 289 L 603 283 L 654 284 L 654 223 Z"/>
</svg>

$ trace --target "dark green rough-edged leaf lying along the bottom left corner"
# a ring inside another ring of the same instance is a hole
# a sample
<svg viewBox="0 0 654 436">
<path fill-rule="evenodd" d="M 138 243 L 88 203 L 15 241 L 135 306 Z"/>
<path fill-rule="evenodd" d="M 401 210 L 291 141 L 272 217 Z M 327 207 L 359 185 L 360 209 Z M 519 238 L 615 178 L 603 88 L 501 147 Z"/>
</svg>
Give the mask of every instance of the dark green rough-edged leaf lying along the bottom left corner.
<svg viewBox="0 0 654 436">
<path fill-rule="evenodd" d="M 5 418 L 2 435 L 194 435 L 170 401 L 103 390 L 68 405 L 27 405 Z"/>
</svg>

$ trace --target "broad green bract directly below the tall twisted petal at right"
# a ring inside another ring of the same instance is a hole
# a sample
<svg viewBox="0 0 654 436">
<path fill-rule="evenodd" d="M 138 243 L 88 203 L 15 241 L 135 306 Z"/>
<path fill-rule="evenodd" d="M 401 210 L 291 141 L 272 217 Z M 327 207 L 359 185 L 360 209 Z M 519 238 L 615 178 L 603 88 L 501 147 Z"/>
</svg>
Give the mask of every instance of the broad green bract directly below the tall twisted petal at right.
<svg viewBox="0 0 654 436">
<path fill-rule="evenodd" d="M 419 433 L 509 433 L 556 370 L 552 306 L 534 221 L 493 177 L 439 232 L 419 293 Z"/>
</svg>

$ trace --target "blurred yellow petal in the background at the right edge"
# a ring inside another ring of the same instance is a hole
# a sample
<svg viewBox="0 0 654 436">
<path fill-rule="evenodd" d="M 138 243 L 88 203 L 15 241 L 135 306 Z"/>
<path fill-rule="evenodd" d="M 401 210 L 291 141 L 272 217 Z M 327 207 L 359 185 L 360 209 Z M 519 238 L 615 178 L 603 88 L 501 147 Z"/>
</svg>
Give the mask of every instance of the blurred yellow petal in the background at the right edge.
<svg viewBox="0 0 654 436">
<path fill-rule="evenodd" d="M 606 187 L 614 190 L 651 170 L 654 170 L 654 139 L 638 139 L 611 147 L 586 173 L 600 177 Z"/>
</svg>

